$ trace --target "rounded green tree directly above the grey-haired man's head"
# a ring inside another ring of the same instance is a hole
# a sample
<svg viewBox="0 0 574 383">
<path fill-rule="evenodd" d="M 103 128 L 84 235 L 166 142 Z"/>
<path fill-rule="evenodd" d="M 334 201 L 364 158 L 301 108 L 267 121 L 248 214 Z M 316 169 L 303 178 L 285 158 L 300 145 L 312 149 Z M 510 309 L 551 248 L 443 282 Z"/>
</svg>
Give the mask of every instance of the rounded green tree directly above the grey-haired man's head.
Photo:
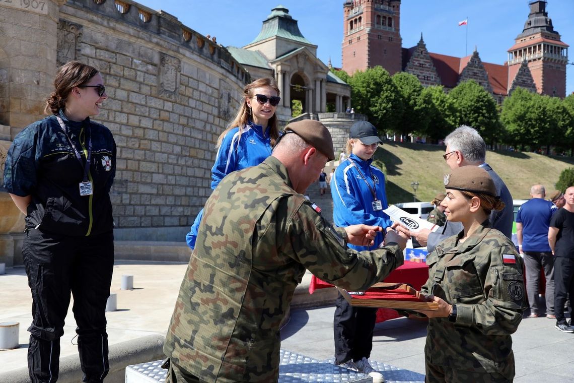
<svg viewBox="0 0 574 383">
<path fill-rule="evenodd" d="M 474 127 L 484 141 L 490 144 L 503 138 L 498 121 L 497 102 L 479 83 L 474 80 L 461 82 L 449 95 L 455 102 L 457 126 Z"/>
</svg>

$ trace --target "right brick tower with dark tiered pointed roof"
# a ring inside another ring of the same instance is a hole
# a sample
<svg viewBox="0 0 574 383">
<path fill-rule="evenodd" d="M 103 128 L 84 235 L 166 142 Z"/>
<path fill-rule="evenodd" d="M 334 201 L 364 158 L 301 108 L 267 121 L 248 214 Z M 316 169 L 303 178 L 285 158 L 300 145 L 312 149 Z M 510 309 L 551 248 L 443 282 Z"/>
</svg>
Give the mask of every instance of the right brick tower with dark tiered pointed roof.
<svg viewBox="0 0 574 383">
<path fill-rule="evenodd" d="M 530 1 L 530 14 L 522 33 L 508 50 L 509 67 L 528 63 L 538 93 L 566 96 L 568 44 L 560 41 L 546 12 L 546 1 Z M 512 69 L 510 69 L 512 70 Z"/>
</svg>

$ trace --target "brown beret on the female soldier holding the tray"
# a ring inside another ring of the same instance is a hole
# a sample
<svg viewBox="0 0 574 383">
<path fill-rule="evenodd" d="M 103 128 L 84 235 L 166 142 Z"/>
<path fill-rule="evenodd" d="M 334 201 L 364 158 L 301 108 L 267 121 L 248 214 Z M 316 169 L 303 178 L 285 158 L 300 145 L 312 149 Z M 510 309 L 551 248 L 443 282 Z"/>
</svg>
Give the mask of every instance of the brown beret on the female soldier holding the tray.
<svg viewBox="0 0 574 383">
<path fill-rule="evenodd" d="M 497 196 L 497 188 L 488 173 L 477 166 L 454 169 L 444 176 L 444 188 Z"/>
</svg>

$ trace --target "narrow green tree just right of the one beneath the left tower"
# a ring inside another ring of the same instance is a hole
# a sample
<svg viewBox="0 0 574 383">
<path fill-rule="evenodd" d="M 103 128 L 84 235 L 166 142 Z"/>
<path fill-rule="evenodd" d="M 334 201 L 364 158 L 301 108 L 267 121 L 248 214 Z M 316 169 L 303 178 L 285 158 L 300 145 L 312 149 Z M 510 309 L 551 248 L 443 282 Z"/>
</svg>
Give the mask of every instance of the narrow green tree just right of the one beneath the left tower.
<svg viewBox="0 0 574 383">
<path fill-rule="evenodd" d="M 392 79 L 403 105 L 398 123 L 400 133 L 405 136 L 410 133 L 425 134 L 432 105 L 430 95 L 422 92 L 422 84 L 415 75 L 397 72 Z"/>
</svg>

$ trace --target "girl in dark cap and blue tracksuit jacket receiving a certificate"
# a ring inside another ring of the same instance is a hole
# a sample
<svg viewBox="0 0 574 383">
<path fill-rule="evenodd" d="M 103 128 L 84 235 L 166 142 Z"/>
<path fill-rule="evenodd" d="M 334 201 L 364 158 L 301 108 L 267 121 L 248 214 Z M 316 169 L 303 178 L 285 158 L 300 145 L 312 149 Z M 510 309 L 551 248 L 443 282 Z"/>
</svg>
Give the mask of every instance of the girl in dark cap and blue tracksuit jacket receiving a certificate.
<svg viewBox="0 0 574 383">
<path fill-rule="evenodd" d="M 336 226 L 364 223 L 381 226 L 385 233 L 391 226 L 391 219 L 383 212 L 388 207 L 385 175 L 372 165 L 379 144 L 382 141 L 371 123 L 359 121 L 351 126 L 346 147 L 348 156 L 331 178 Z M 383 239 L 383 233 L 378 233 L 373 246 L 349 247 L 358 251 L 376 249 Z M 365 373 L 373 378 L 373 382 L 383 382 L 382 374 L 369 363 L 377 308 L 352 307 L 340 293 L 335 305 L 335 364 Z"/>
</svg>

